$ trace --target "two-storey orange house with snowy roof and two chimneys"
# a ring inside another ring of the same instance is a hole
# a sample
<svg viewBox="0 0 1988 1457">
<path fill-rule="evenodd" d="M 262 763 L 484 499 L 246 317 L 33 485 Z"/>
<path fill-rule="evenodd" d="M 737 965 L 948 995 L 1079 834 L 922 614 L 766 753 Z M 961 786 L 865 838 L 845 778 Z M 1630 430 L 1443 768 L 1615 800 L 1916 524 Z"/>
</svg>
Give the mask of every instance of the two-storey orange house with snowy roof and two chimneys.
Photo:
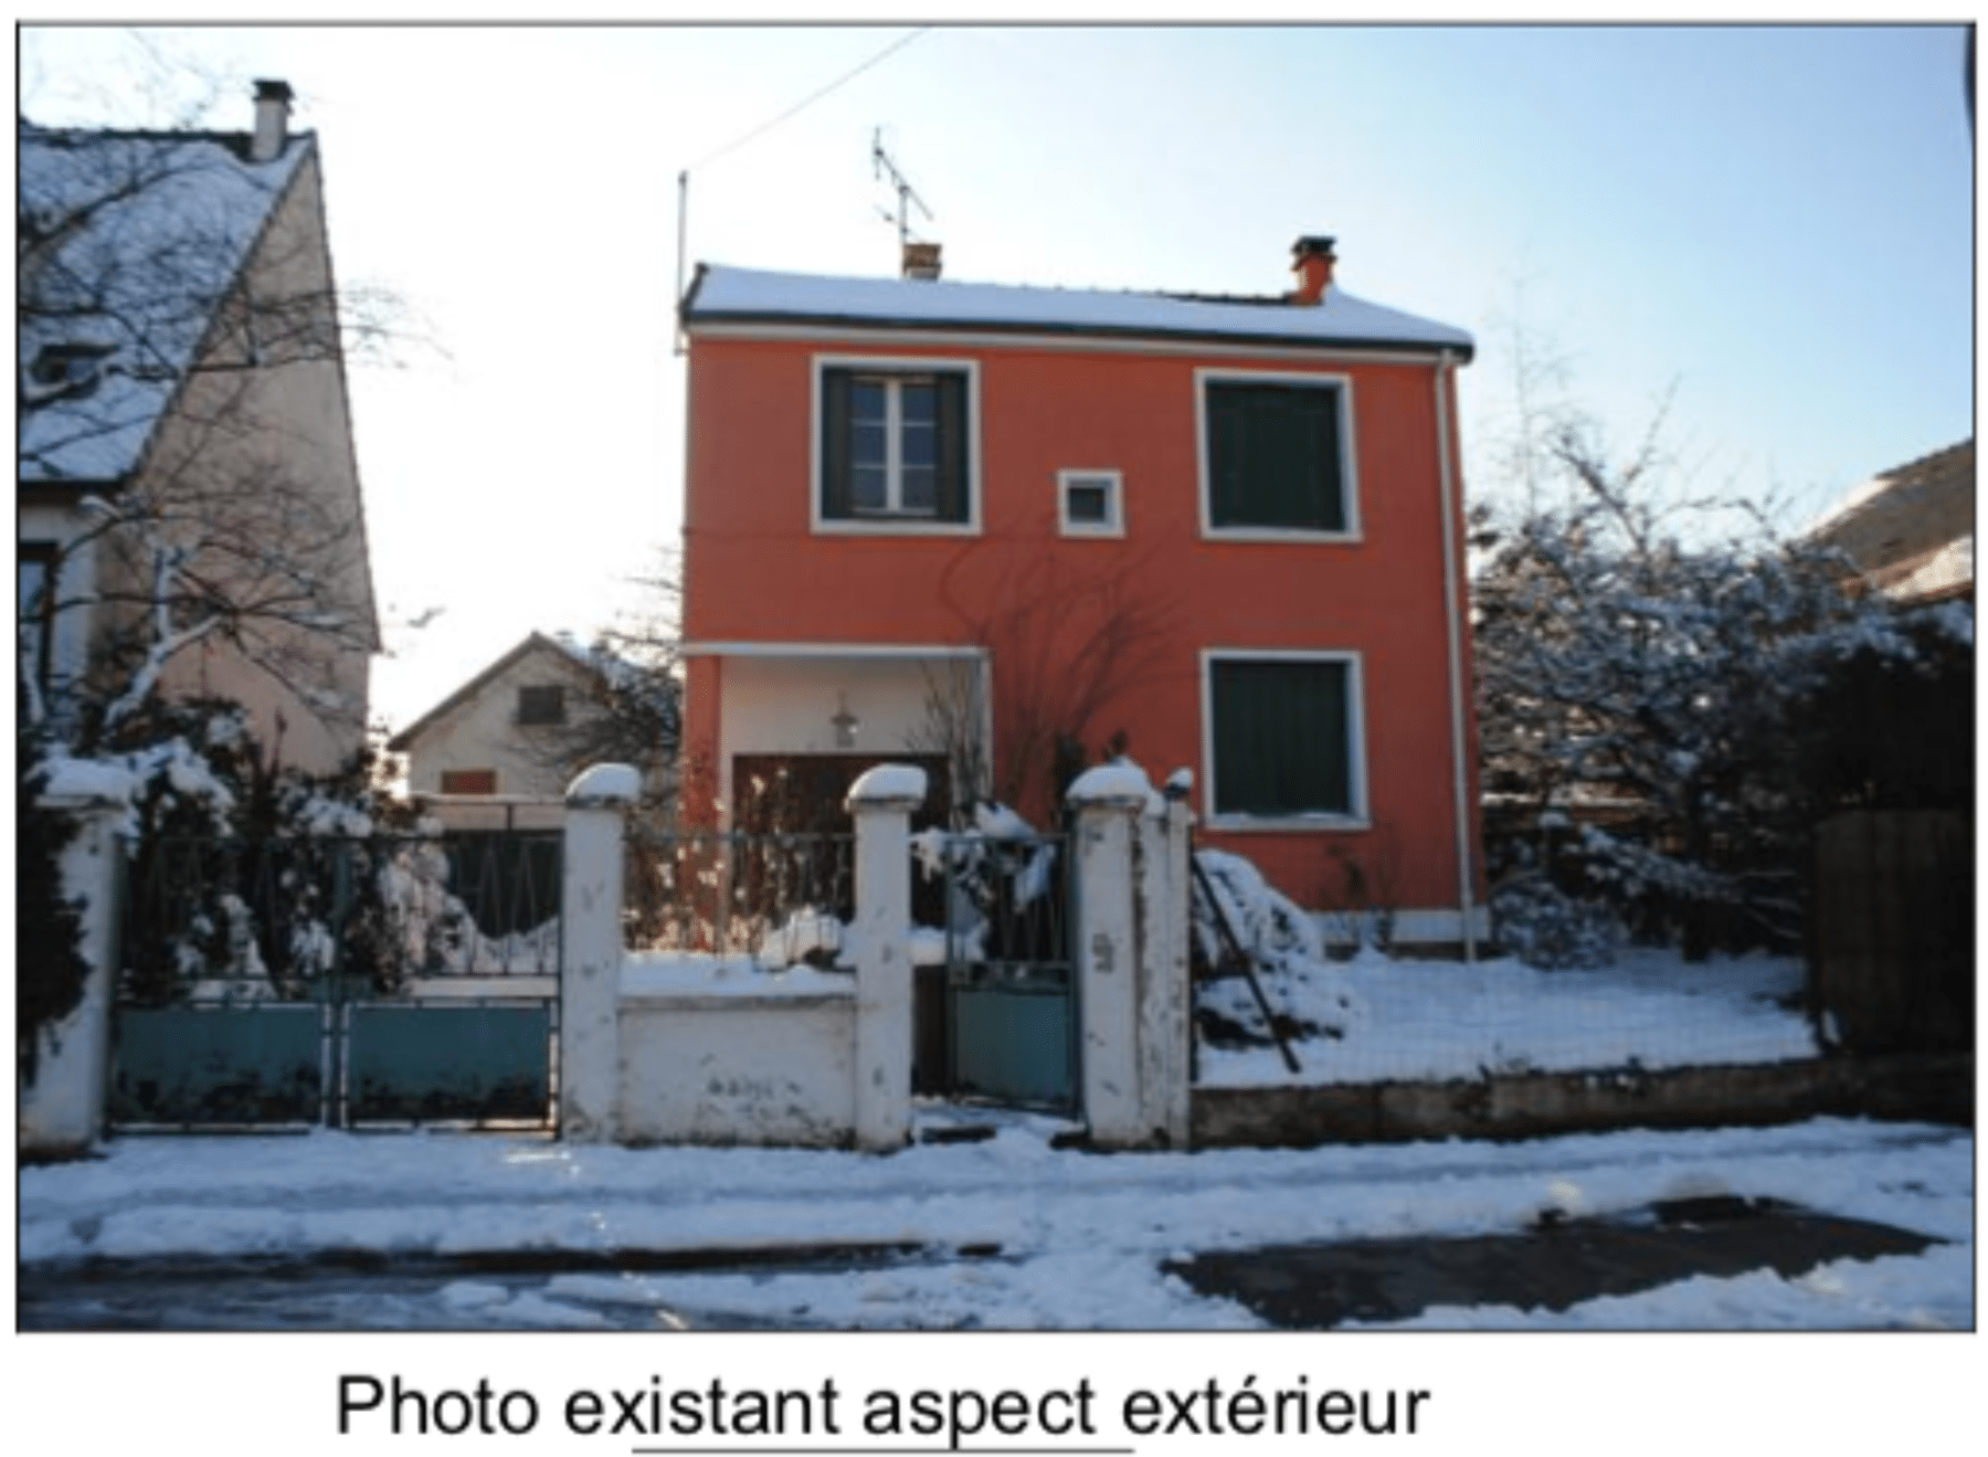
<svg viewBox="0 0 1988 1457">
<path fill-rule="evenodd" d="M 688 811 L 763 823 L 779 785 L 805 819 L 912 757 L 1046 823 L 1123 751 L 1300 904 L 1481 934 L 1469 334 L 1336 288 L 1332 239 L 1250 298 L 934 252 L 684 298 Z"/>
</svg>

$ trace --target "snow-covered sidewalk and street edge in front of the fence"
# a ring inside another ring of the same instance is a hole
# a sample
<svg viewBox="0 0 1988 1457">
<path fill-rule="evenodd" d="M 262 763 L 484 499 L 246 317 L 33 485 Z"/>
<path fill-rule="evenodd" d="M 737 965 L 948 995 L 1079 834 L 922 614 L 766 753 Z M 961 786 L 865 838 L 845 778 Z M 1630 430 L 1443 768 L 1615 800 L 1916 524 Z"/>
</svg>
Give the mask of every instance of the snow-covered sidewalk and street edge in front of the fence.
<svg viewBox="0 0 1988 1457">
<path fill-rule="evenodd" d="M 1515 1145 L 1109 1157 L 1056 1149 L 1050 1131 L 1024 1119 L 984 1143 L 893 1157 L 489 1135 L 123 1139 L 99 1161 L 22 1171 L 22 1276 L 46 1288 L 105 1260 L 169 1270 L 344 1254 L 392 1268 L 513 1256 L 511 1268 L 529 1274 L 435 1278 L 388 1302 L 340 1306 L 334 1320 L 1223 1330 L 1262 1322 L 1244 1304 L 1197 1294 L 1163 1266 L 1278 1244 L 1521 1234 L 1543 1214 L 1630 1214 L 1658 1201 L 1736 1197 L 1942 1242 L 1922 1254 L 1835 1260 L 1795 1278 L 1698 1276 L 1559 1314 L 1495 1300 L 1443 1306 L 1421 1324 L 1974 1324 L 1974 1141 L 1964 1129 L 1819 1119 Z M 779 1264 L 781 1252 L 821 1246 L 916 1254 L 857 1268 Z M 654 1268 L 670 1252 L 710 1250 L 757 1250 L 769 1262 Z M 559 1252 L 573 1256 L 571 1268 L 559 1268 Z M 616 1260 L 618 1252 L 642 1258 Z"/>
</svg>

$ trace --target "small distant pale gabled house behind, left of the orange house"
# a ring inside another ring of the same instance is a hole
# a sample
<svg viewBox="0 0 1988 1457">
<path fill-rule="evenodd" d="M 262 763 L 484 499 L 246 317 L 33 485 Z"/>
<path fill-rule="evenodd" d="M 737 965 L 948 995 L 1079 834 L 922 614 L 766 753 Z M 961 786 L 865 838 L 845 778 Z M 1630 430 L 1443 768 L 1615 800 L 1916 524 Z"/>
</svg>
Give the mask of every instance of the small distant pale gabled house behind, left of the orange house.
<svg viewBox="0 0 1988 1457">
<path fill-rule="evenodd" d="M 388 741 L 417 799 L 559 803 L 626 666 L 533 632 Z M 662 745 L 658 745 L 658 759 Z"/>
</svg>

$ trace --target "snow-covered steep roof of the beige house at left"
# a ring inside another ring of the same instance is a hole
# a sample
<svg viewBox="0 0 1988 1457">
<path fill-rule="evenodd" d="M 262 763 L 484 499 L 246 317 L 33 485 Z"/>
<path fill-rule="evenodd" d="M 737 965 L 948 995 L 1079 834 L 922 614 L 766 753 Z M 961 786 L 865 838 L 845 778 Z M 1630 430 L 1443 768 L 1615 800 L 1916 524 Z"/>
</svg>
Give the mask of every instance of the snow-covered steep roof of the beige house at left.
<svg viewBox="0 0 1988 1457">
<path fill-rule="evenodd" d="M 129 475 L 276 199 L 310 151 L 250 163 L 219 133 L 22 121 L 16 350 L 22 481 Z"/>
</svg>

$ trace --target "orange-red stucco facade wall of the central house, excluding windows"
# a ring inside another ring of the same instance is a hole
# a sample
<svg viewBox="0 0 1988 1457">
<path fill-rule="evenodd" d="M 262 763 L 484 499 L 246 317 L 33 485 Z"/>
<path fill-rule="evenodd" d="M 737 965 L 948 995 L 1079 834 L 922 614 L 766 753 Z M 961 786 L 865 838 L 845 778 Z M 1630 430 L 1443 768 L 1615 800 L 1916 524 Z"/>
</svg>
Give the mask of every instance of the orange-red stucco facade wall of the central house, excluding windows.
<svg viewBox="0 0 1988 1457">
<path fill-rule="evenodd" d="M 823 356 L 972 362 L 970 529 L 821 529 Z M 1481 900 L 1455 358 L 964 328 L 881 328 L 875 338 L 847 326 L 692 328 L 686 642 L 982 648 L 996 765 L 1034 731 L 1028 718 L 1046 702 L 1093 696 L 1101 702 L 1079 726 L 1083 743 L 1095 753 L 1121 735 L 1155 781 L 1193 769 L 1199 839 L 1250 857 L 1296 900 L 1340 904 L 1354 863 L 1378 904 L 1455 912 L 1465 883 Z M 1207 531 L 1197 400 L 1209 370 L 1342 382 L 1356 535 L 1237 541 Z M 1060 471 L 1070 469 L 1117 473 L 1121 535 L 1064 529 Z M 1115 656 L 1101 644 L 1115 644 Z M 1362 815 L 1248 827 L 1209 813 L 1209 652 L 1356 658 Z M 690 656 L 692 759 L 718 751 L 724 672 L 722 652 Z M 1046 769 L 1016 791 L 1038 817 Z"/>
</svg>

